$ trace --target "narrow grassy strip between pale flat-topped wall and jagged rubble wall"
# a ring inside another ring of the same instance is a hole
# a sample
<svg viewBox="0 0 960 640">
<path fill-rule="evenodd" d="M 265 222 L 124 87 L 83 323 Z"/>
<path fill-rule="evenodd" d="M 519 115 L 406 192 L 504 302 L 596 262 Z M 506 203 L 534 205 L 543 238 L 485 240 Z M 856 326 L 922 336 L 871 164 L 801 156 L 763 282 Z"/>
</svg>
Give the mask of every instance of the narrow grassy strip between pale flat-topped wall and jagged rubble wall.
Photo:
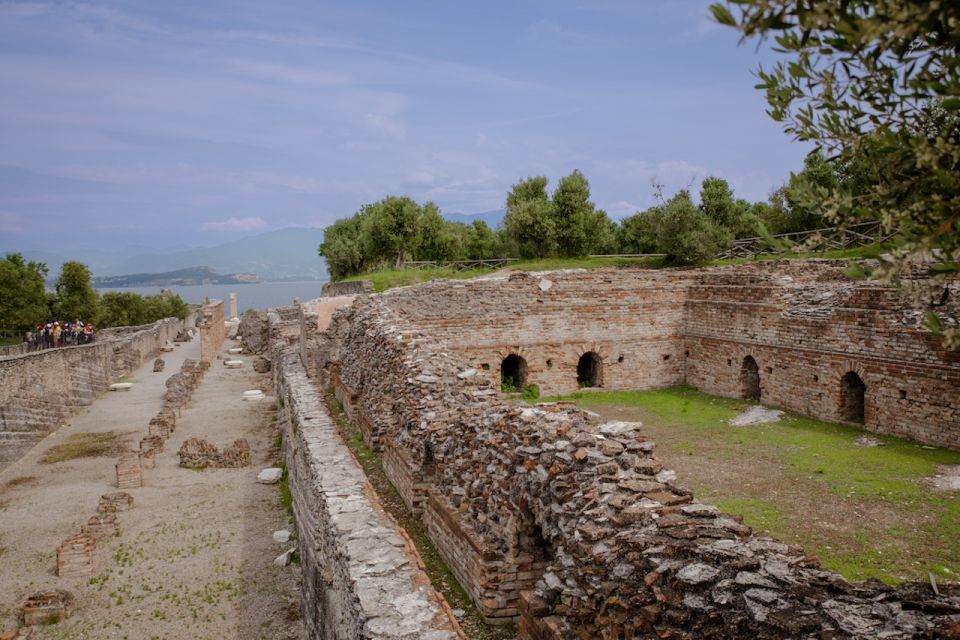
<svg viewBox="0 0 960 640">
<path fill-rule="evenodd" d="M 363 441 L 363 434 L 354 425 L 343 410 L 343 405 L 337 400 L 331 390 L 324 394 L 324 400 L 330 415 L 336 422 L 340 436 L 353 452 L 354 457 L 363 467 L 363 471 L 373 485 L 380 503 L 393 516 L 420 554 L 426 568 L 430 582 L 437 592 L 443 594 L 450 607 L 461 609 L 464 615 L 458 618 L 460 627 L 471 640 L 513 640 L 517 637 L 517 630 L 513 625 L 490 625 L 483 621 L 473 601 L 463 587 L 457 582 L 450 568 L 447 567 L 440 553 L 427 536 L 426 528 L 420 518 L 407 508 L 399 492 L 387 478 L 383 470 L 380 456 Z"/>
</svg>

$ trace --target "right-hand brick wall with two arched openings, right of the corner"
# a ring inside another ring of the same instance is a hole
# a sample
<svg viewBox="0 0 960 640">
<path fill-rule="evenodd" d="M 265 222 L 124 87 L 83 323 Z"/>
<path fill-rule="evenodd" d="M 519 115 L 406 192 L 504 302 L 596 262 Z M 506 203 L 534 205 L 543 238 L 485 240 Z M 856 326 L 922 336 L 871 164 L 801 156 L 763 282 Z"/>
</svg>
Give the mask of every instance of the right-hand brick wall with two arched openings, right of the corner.
<svg viewBox="0 0 960 640">
<path fill-rule="evenodd" d="M 749 357 L 764 403 L 960 448 L 960 351 L 919 326 L 928 310 L 829 262 L 704 270 L 687 292 L 687 382 L 745 397 Z M 862 415 L 845 377 L 865 385 Z"/>
</svg>

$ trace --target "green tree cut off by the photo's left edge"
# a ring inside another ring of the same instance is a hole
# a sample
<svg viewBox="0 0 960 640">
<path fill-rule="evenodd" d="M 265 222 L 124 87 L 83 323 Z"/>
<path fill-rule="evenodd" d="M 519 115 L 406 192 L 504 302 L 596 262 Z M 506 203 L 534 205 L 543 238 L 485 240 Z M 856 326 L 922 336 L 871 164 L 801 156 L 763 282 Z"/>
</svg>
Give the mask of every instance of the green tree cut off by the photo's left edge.
<svg viewBox="0 0 960 640">
<path fill-rule="evenodd" d="M 0 260 L 0 331 L 21 337 L 47 317 L 46 275 L 45 264 L 27 262 L 19 253 Z"/>
</svg>

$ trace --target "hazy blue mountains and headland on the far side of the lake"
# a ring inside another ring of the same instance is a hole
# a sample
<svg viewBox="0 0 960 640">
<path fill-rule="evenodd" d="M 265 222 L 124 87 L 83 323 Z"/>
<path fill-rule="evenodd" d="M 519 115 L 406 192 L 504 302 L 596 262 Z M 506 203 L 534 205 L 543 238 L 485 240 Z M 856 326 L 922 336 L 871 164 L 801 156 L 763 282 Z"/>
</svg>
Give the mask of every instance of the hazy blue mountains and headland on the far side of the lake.
<svg viewBox="0 0 960 640">
<path fill-rule="evenodd" d="M 170 250 L 126 247 L 112 251 L 77 250 L 70 254 L 22 251 L 28 260 L 40 260 L 55 279 L 67 260 L 83 262 L 94 276 L 161 274 L 206 265 L 217 273 L 253 273 L 261 281 L 326 280 L 327 269 L 317 247 L 323 229 L 288 228 L 241 238 L 214 247 Z"/>
</svg>

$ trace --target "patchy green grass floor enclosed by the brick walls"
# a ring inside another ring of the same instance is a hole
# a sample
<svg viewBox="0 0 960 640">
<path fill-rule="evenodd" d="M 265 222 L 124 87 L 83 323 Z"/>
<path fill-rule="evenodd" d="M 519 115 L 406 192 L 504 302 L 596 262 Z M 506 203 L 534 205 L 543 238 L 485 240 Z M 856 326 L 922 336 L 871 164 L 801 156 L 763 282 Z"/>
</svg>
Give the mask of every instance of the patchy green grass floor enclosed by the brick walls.
<svg viewBox="0 0 960 640">
<path fill-rule="evenodd" d="M 700 500 L 798 544 L 851 580 L 960 578 L 960 492 L 934 490 L 939 465 L 960 452 L 870 434 L 790 412 L 732 427 L 750 405 L 690 387 L 585 392 L 564 399 L 608 420 L 639 420 L 657 455 Z"/>
</svg>

